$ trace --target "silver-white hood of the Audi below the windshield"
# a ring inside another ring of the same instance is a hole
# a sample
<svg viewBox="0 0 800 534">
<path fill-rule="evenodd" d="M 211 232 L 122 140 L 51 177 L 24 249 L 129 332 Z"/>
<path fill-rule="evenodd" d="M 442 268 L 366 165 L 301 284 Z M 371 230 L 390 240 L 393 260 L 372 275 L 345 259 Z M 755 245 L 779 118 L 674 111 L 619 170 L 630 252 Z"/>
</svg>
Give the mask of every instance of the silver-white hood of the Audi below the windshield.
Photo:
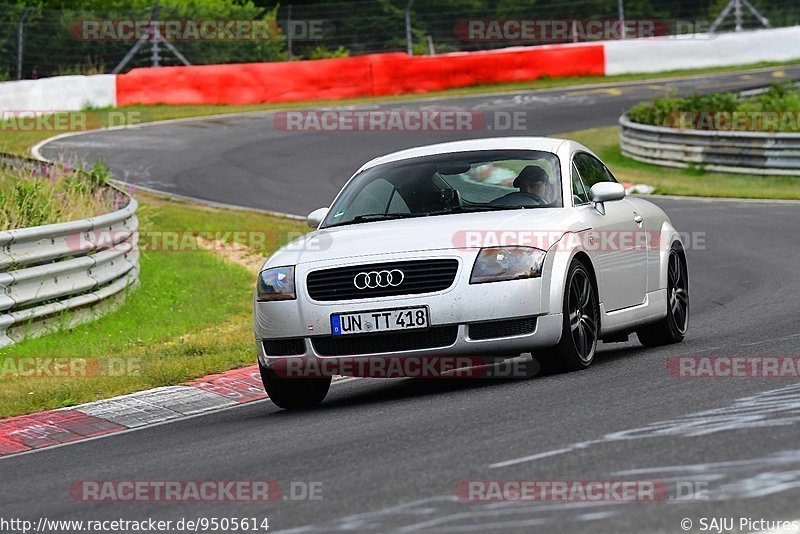
<svg viewBox="0 0 800 534">
<path fill-rule="evenodd" d="M 588 227 L 573 208 L 458 213 L 323 228 L 275 252 L 265 267 L 375 254 L 526 245 L 549 248 L 565 232 Z"/>
</svg>

